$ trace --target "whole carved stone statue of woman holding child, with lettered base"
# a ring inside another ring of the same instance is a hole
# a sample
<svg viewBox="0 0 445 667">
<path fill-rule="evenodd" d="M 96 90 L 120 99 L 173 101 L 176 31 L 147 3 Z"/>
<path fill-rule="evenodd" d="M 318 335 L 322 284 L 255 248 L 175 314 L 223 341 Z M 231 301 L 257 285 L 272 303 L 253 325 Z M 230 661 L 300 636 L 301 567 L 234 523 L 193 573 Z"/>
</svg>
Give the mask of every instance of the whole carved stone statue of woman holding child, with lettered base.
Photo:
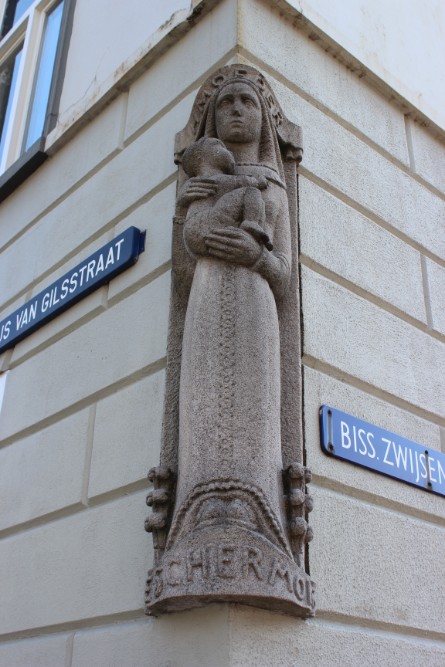
<svg viewBox="0 0 445 667">
<path fill-rule="evenodd" d="M 313 613 L 301 436 L 299 128 L 234 65 L 177 136 L 166 413 L 147 613 L 212 601 Z"/>
</svg>

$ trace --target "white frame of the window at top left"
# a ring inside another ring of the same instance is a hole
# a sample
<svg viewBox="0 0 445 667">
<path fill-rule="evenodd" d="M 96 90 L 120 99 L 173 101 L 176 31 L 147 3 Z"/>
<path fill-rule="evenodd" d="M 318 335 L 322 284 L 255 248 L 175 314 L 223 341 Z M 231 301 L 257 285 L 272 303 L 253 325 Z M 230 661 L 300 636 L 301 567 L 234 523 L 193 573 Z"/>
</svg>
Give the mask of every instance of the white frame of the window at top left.
<svg viewBox="0 0 445 667">
<path fill-rule="evenodd" d="M 0 41 L 0 65 L 23 44 L 22 56 L 20 60 L 17 83 L 11 99 L 10 121 L 5 135 L 3 155 L 0 157 L 0 190 L 2 181 L 4 181 L 5 172 L 11 171 L 11 167 L 23 156 L 26 157 L 27 151 L 24 151 L 24 136 L 27 131 L 27 121 L 30 105 L 32 104 L 32 95 L 34 81 L 37 75 L 39 65 L 40 51 L 44 38 L 46 16 L 54 9 L 60 0 L 34 0 L 19 20 L 10 28 L 6 35 Z M 3 18 L 7 0 L 0 0 L 0 25 L 3 24 Z M 66 15 L 68 9 L 72 10 L 74 0 L 65 0 L 62 24 L 59 32 L 59 45 L 65 38 Z M 72 11 L 71 11 L 72 15 Z M 58 46 L 60 52 L 60 47 Z M 58 62 L 54 65 L 53 75 L 57 77 Z M 55 84 L 53 76 L 52 90 L 49 95 L 49 104 L 47 109 L 47 119 L 49 114 L 54 114 L 54 109 L 50 108 Z M 45 123 L 42 137 L 49 131 Z M 39 149 L 43 150 L 42 141 L 39 140 Z M 35 152 L 32 151 L 30 152 Z M 21 160 L 23 162 L 23 160 Z M 0 201 L 1 201 L 0 192 Z"/>
</svg>

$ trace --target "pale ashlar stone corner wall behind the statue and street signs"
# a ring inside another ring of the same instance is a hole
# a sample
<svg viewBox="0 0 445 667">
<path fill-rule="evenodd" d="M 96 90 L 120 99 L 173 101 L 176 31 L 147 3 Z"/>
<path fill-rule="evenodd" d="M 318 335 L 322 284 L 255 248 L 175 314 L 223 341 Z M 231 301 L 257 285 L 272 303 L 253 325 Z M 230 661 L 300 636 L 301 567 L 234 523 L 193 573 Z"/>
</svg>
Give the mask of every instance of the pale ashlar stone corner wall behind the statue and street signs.
<svg viewBox="0 0 445 667">
<path fill-rule="evenodd" d="M 0 319 L 128 226 L 147 232 L 133 268 L 0 357 L 2 666 L 444 664 L 445 499 L 327 458 L 318 432 L 327 403 L 445 451 L 444 138 L 292 11 L 217 3 L 64 145 L 59 132 L 51 158 L 0 207 Z M 304 130 L 318 605 L 306 621 L 228 605 L 143 615 L 174 135 L 200 84 L 231 62 L 263 71 Z"/>
</svg>

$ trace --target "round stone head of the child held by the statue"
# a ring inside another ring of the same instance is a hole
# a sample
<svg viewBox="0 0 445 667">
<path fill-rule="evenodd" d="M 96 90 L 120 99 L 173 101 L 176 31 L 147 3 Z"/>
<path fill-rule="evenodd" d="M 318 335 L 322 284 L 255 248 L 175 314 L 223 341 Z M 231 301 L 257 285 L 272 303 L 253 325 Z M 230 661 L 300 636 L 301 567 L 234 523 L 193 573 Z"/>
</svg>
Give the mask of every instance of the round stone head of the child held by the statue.
<svg viewBox="0 0 445 667">
<path fill-rule="evenodd" d="M 205 176 L 209 169 L 223 174 L 233 174 L 235 158 L 219 139 L 202 137 L 184 152 L 182 166 L 190 177 Z"/>
</svg>

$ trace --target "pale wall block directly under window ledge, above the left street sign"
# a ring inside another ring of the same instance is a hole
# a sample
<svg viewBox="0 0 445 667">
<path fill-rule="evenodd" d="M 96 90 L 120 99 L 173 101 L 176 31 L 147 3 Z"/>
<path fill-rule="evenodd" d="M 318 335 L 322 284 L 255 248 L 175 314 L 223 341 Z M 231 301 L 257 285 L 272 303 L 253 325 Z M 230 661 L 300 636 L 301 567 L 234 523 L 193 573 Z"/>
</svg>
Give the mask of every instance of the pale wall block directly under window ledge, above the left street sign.
<svg viewBox="0 0 445 667">
<path fill-rule="evenodd" d="M 125 106 L 125 96 L 121 95 L 2 202 L 0 247 L 112 157 L 119 149 Z M 66 225 L 63 227 L 66 232 Z M 26 255 L 28 260 L 32 256 L 32 252 Z"/>
</svg>

